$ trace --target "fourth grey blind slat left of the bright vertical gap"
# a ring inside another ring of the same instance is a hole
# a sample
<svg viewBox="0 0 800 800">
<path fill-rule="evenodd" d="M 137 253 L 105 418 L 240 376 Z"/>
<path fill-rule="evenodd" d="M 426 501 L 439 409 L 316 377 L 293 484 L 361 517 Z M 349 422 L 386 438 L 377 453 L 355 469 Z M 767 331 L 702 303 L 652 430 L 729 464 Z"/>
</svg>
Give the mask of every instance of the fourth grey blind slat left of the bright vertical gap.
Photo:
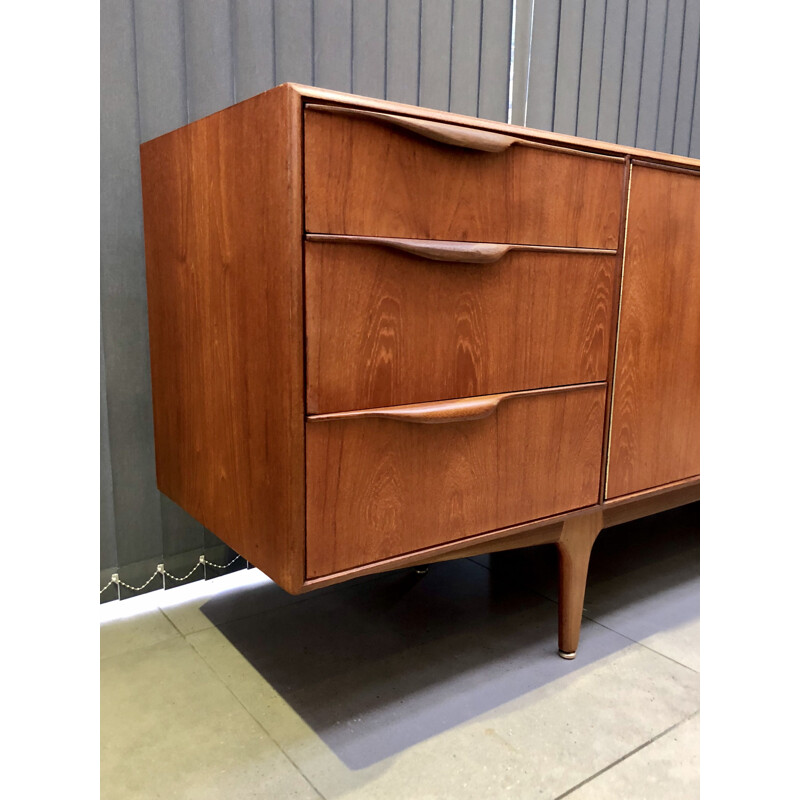
<svg viewBox="0 0 800 800">
<path fill-rule="evenodd" d="M 419 99 L 420 0 L 388 0 L 386 99 L 416 104 Z"/>
</svg>

